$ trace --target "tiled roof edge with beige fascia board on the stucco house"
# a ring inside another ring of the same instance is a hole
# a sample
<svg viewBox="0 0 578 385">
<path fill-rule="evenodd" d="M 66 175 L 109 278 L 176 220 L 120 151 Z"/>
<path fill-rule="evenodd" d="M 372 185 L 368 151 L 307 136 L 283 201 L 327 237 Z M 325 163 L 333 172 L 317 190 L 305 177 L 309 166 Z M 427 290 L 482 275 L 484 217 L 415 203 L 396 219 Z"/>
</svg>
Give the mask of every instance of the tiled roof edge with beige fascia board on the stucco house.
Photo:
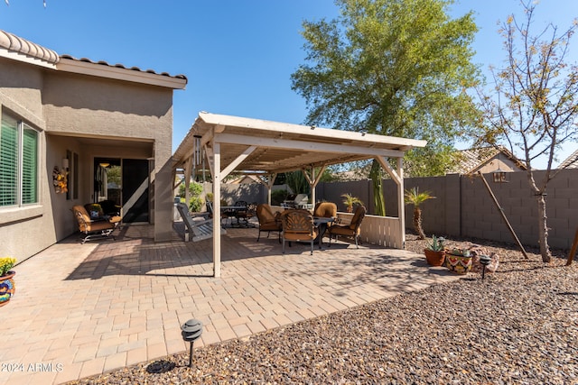
<svg viewBox="0 0 578 385">
<path fill-rule="evenodd" d="M 6 51 L 0 50 L 0 56 L 66 72 L 180 89 L 187 84 L 187 77 L 184 75 L 172 76 L 166 72 L 157 73 L 153 69 L 127 68 L 122 64 L 111 65 L 102 60 L 93 61 L 86 58 L 76 59 L 70 55 L 59 55 L 53 50 L 27 41 L 14 33 L 0 30 L 0 49 L 2 48 Z"/>
</svg>

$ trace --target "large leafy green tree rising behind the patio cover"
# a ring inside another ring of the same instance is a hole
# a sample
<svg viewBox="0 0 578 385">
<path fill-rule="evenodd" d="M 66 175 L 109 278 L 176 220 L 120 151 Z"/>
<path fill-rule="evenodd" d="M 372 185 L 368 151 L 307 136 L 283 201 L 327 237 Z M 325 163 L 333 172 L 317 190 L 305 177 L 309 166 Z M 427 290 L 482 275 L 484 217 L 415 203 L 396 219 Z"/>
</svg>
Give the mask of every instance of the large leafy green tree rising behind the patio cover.
<svg viewBox="0 0 578 385">
<path fill-rule="evenodd" d="M 340 18 L 303 23 L 306 63 L 292 88 L 309 106 L 307 124 L 427 140 L 407 153 L 408 165 L 420 165 L 408 170 L 443 173 L 456 135 L 477 116 L 466 93 L 479 75 L 471 63 L 472 14 L 452 20 L 452 0 L 336 4 Z M 383 200 L 378 174 L 374 196 Z"/>
</svg>

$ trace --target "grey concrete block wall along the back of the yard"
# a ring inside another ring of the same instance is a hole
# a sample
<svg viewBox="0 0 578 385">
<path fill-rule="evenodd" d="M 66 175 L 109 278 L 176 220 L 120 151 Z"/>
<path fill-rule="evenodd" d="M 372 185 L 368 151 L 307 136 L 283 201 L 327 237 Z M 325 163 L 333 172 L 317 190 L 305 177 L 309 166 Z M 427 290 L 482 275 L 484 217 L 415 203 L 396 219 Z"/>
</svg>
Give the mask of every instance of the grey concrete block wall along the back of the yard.
<svg viewBox="0 0 578 385">
<path fill-rule="evenodd" d="M 499 207 L 508 218 L 521 243 L 536 246 L 538 243 L 538 207 L 536 197 L 529 188 L 527 173 L 508 172 L 506 183 L 494 183 L 491 174 L 484 174 Z M 539 183 L 545 171 L 536 171 Z M 435 199 L 421 206 L 425 234 L 475 237 L 493 241 L 515 243 L 508 226 L 500 215 L 488 189 L 478 176 L 457 174 L 445 177 L 405 179 L 405 188 L 418 187 L 431 191 Z M 338 183 L 320 183 L 316 197 L 338 204 L 344 210 L 341 194 L 351 193 L 360 197 L 374 214 L 373 188 L 370 180 Z M 561 170 L 546 189 L 546 215 L 549 228 L 548 243 L 551 247 L 570 249 L 578 228 L 578 170 Z M 386 214 L 397 216 L 396 184 L 384 180 Z M 413 228 L 413 206 L 406 206 L 406 227 Z"/>
</svg>

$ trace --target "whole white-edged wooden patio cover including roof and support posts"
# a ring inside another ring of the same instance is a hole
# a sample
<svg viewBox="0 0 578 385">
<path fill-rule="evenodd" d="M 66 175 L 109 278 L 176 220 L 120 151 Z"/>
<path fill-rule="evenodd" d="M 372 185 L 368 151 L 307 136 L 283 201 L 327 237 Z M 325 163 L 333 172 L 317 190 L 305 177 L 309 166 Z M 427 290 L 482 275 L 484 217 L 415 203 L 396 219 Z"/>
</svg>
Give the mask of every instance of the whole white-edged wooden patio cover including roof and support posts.
<svg viewBox="0 0 578 385">
<path fill-rule="evenodd" d="M 259 175 L 269 188 L 276 174 L 303 170 L 314 187 L 322 171 L 331 164 L 376 159 L 397 185 L 397 206 L 401 234 L 405 243 L 403 156 L 425 141 L 393 136 L 319 128 L 300 124 L 271 122 L 246 117 L 201 112 L 191 130 L 172 155 L 173 171 L 182 169 L 189 185 L 196 170 L 209 167 L 213 180 L 213 209 L 220 212 L 220 183 L 232 171 Z M 397 160 L 396 168 L 387 158 Z M 317 170 L 316 168 L 321 168 Z M 213 221 L 213 234 L 220 234 L 219 221 Z M 220 276 L 220 236 L 213 235 L 213 272 Z"/>
</svg>

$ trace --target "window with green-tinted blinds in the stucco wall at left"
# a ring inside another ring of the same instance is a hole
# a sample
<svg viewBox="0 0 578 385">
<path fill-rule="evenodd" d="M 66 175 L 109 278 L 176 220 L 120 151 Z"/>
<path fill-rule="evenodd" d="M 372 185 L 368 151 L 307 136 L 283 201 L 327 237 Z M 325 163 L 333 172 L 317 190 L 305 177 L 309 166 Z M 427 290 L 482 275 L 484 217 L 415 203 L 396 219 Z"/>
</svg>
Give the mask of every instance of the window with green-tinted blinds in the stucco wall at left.
<svg viewBox="0 0 578 385">
<path fill-rule="evenodd" d="M 38 132 L 3 114 L 0 126 L 0 206 L 38 202 Z"/>
</svg>

